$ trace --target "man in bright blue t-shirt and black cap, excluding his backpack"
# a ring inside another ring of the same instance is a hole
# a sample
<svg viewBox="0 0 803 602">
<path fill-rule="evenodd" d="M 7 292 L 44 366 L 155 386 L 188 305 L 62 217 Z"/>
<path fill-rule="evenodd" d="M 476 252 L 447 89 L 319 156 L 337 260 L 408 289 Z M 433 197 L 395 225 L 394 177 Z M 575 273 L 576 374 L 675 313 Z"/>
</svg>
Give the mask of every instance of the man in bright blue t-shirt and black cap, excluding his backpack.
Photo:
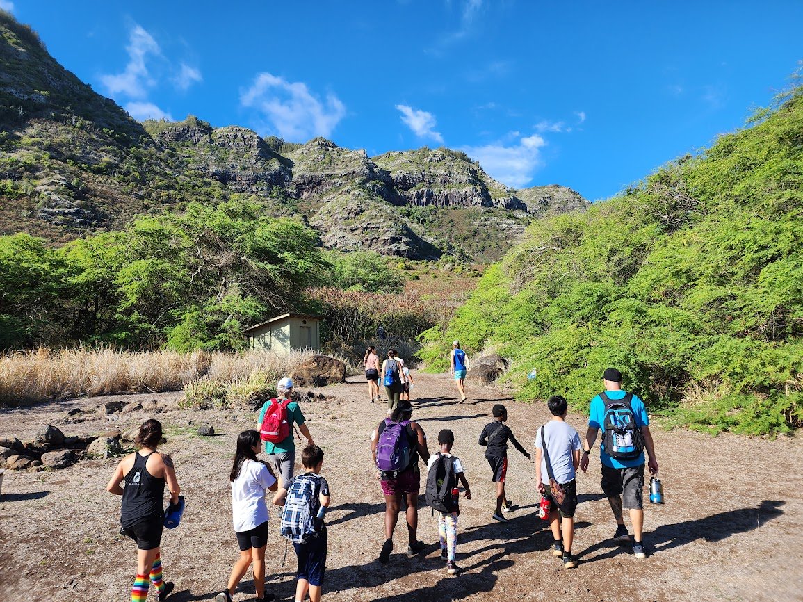
<svg viewBox="0 0 803 602">
<path fill-rule="evenodd" d="M 608 368 L 602 375 L 602 382 L 605 384 L 605 397 L 609 400 L 622 400 L 628 395 L 622 389 L 622 372 L 616 368 Z M 652 435 L 650 434 L 650 419 L 647 417 L 644 402 L 633 395 L 630 400 L 630 410 L 635 417 L 636 426 L 644 437 L 644 449 L 650 458 L 647 466 L 651 474 L 658 473 L 658 460 L 655 458 L 655 449 Z M 585 444 L 580 458 L 580 468 L 584 472 L 589 469 L 589 454 L 593 448 L 594 441 L 597 441 L 597 433 L 603 430 L 603 441 L 605 441 L 605 401 L 601 395 L 597 395 L 591 400 L 589 411 L 589 429 L 585 433 Z M 644 452 L 638 458 L 629 460 L 611 458 L 605 453 L 605 445 L 600 445 L 600 462 L 602 465 L 602 480 L 600 485 L 602 491 L 608 497 L 610 508 L 617 522 L 616 533 L 613 540 L 618 543 L 630 541 L 630 535 L 625 527 L 625 520 L 622 518 L 622 508 L 630 510 L 630 523 L 633 524 L 633 554 L 636 558 L 646 558 L 646 549 L 642 542 L 644 531 L 644 506 L 642 502 L 644 490 Z"/>
</svg>

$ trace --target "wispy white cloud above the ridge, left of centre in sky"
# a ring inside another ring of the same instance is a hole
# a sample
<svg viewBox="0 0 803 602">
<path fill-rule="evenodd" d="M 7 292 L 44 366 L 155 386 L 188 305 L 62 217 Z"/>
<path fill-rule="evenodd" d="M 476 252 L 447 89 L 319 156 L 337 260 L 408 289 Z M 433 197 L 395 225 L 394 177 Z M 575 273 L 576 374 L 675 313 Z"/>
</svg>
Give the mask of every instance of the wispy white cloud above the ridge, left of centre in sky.
<svg viewBox="0 0 803 602">
<path fill-rule="evenodd" d="M 303 82 L 260 73 L 240 95 L 243 107 L 255 108 L 267 120 L 268 128 L 285 140 L 306 141 L 329 136 L 346 114 L 345 105 L 334 94 L 321 102 Z"/>
</svg>

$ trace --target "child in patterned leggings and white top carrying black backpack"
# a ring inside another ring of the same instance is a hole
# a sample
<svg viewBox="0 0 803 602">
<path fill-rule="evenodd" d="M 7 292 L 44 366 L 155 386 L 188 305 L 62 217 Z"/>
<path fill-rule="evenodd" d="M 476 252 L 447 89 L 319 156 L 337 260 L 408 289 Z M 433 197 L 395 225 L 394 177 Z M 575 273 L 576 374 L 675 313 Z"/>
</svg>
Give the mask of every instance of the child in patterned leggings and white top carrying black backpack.
<svg viewBox="0 0 803 602">
<path fill-rule="evenodd" d="M 457 555 L 457 518 L 460 515 L 458 482 L 463 484 L 466 499 L 471 499 L 471 487 L 460 458 L 451 454 L 454 433 L 443 429 L 438 433 L 440 452 L 432 454 L 426 463 L 426 503 L 438 512 L 438 536 L 441 558 L 446 560 L 446 572 L 459 575 L 463 569 L 454 562 Z"/>
</svg>

